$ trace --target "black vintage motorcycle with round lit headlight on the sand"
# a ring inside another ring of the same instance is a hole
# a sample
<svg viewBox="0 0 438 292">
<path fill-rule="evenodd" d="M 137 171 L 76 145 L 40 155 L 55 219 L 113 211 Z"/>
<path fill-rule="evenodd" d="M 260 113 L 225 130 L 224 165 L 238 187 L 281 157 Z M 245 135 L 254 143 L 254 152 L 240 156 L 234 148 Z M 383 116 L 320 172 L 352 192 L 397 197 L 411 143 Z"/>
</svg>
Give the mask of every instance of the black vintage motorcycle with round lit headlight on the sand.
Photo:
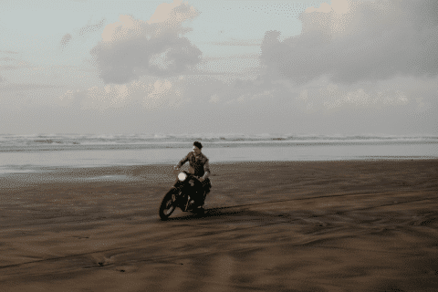
<svg viewBox="0 0 438 292">
<path fill-rule="evenodd" d="M 203 185 L 196 176 L 189 172 L 180 172 L 171 190 L 162 198 L 160 204 L 160 218 L 167 220 L 169 216 L 180 208 L 183 212 L 203 214 L 202 206 L 197 205 L 193 198 L 199 198 L 203 193 Z"/>
</svg>

